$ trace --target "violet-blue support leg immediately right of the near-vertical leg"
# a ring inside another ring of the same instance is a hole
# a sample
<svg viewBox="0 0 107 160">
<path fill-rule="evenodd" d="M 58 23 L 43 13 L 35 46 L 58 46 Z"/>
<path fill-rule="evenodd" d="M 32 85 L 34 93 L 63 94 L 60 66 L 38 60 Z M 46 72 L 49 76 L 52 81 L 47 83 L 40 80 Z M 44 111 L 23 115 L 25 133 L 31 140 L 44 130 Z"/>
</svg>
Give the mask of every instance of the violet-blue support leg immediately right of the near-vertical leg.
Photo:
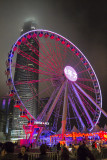
<svg viewBox="0 0 107 160">
<path fill-rule="evenodd" d="M 85 127 L 85 124 L 84 124 L 82 118 L 80 117 L 79 112 L 78 112 L 77 109 L 76 109 L 75 103 L 72 101 L 72 99 L 71 99 L 70 96 L 68 96 L 68 98 L 69 98 L 69 101 L 70 101 L 70 103 L 71 103 L 71 106 L 73 107 L 73 109 L 74 109 L 74 111 L 75 111 L 75 113 L 76 113 L 76 115 L 77 115 L 77 117 L 78 117 L 78 119 L 79 119 L 82 127 L 84 128 L 84 127 Z"/>
</svg>

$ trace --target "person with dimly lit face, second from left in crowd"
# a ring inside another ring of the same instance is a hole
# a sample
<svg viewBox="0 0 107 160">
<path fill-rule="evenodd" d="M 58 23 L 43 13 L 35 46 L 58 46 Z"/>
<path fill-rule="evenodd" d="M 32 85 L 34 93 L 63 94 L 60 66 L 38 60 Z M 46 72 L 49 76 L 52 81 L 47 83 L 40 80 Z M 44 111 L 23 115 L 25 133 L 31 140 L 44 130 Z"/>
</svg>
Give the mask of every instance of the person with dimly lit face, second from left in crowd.
<svg viewBox="0 0 107 160">
<path fill-rule="evenodd" d="M 26 153 L 26 146 L 21 147 L 21 152 L 18 154 L 18 160 L 28 160 L 28 154 Z"/>
</svg>

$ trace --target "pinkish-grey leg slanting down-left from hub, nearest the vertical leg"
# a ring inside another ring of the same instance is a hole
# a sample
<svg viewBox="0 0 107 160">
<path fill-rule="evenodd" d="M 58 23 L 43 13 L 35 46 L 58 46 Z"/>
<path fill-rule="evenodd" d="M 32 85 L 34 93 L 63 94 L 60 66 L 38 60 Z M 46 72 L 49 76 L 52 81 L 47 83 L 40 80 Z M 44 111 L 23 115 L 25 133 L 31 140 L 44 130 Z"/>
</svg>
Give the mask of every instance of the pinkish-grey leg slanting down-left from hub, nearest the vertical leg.
<svg viewBox="0 0 107 160">
<path fill-rule="evenodd" d="M 62 86 L 61 86 L 61 88 L 60 88 L 60 90 L 59 90 L 59 92 L 58 92 L 58 94 L 57 94 L 57 96 L 56 96 L 51 108 L 49 109 L 49 111 L 48 111 L 48 113 L 46 115 L 46 119 L 45 119 L 46 122 L 49 120 L 49 118 L 50 118 L 50 116 L 51 116 L 51 114 L 52 114 L 52 112 L 53 112 L 53 110 L 54 110 L 54 108 L 56 106 L 56 103 L 57 103 L 57 101 L 58 101 L 58 99 L 59 99 L 59 97 L 60 97 L 60 95 L 61 95 L 61 93 L 62 93 L 62 91 L 64 89 L 64 86 L 65 86 L 65 82 L 62 84 Z M 38 135 L 36 137 L 36 141 L 38 140 L 39 136 L 41 135 L 42 130 L 43 130 L 43 128 L 40 129 L 40 131 L 39 131 L 39 133 L 38 133 Z"/>
</svg>

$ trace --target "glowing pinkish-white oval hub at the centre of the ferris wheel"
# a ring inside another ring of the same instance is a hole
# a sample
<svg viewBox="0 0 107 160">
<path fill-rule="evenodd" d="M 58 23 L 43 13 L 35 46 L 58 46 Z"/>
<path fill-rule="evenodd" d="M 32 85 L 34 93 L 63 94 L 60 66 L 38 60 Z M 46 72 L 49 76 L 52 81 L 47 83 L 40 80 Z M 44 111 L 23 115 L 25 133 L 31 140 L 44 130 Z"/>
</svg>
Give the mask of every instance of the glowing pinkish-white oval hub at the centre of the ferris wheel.
<svg viewBox="0 0 107 160">
<path fill-rule="evenodd" d="M 76 81 L 77 80 L 77 73 L 74 70 L 74 68 L 72 68 L 71 66 L 66 66 L 64 68 L 64 74 L 66 76 L 66 78 L 70 81 Z"/>
</svg>

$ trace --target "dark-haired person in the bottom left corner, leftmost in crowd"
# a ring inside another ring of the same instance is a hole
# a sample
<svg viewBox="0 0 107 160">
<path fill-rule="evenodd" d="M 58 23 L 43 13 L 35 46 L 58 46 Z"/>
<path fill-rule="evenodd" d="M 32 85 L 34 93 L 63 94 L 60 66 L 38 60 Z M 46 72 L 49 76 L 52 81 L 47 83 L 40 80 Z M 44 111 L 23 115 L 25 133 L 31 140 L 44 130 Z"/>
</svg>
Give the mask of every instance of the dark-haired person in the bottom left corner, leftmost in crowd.
<svg viewBox="0 0 107 160">
<path fill-rule="evenodd" d="M 14 154 L 14 144 L 12 142 L 6 142 L 3 144 L 0 160 L 16 160 L 17 157 Z"/>
</svg>

